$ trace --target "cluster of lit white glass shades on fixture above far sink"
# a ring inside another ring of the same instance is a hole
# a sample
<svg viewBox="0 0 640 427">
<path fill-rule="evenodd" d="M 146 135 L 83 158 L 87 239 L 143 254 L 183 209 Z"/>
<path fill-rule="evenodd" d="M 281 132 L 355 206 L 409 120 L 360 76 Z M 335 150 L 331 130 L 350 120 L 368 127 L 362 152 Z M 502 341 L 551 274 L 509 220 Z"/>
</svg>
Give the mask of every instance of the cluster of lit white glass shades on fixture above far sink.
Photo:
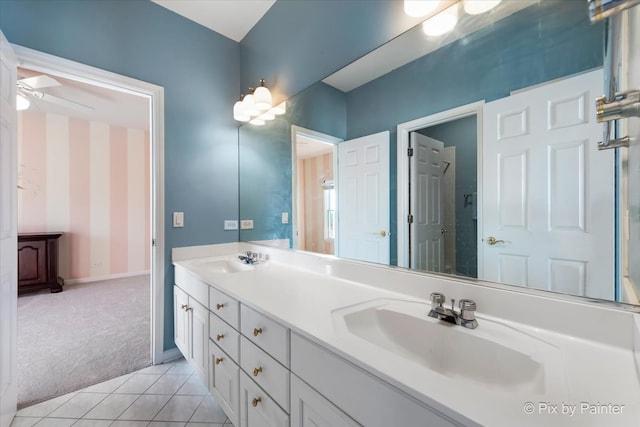
<svg viewBox="0 0 640 427">
<path fill-rule="evenodd" d="M 258 88 L 250 87 L 249 94 L 241 95 L 240 101 L 233 104 L 233 118 L 239 122 L 262 126 L 266 121 L 287 112 L 286 102 L 275 107 L 272 106 L 272 102 L 271 92 L 264 85 L 264 79 L 260 79 Z"/>
</svg>

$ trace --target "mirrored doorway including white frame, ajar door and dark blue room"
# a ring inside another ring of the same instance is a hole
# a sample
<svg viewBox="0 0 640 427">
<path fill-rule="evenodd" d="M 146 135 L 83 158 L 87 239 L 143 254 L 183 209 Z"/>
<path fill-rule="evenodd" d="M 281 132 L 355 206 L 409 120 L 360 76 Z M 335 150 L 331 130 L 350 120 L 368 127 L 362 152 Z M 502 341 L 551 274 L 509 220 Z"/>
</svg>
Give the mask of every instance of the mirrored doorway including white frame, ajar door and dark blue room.
<svg viewBox="0 0 640 427">
<path fill-rule="evenodd" d="M 398 125 L 398 265 L 478 277 L 482 106 Z"/>
</svg>

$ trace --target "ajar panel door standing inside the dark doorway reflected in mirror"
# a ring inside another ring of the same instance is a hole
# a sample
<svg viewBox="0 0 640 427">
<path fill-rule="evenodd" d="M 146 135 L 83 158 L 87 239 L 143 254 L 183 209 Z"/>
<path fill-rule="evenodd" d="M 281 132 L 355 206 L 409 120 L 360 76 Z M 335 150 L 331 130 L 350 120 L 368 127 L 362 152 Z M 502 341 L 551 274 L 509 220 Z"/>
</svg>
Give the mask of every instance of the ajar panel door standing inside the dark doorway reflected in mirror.
<svg viewBox="0 0 640 427">
<path fill-rule="evenodd" d="M 444 143 L 411 133 L 411 268 L 443 271 Z"/>
</svg>

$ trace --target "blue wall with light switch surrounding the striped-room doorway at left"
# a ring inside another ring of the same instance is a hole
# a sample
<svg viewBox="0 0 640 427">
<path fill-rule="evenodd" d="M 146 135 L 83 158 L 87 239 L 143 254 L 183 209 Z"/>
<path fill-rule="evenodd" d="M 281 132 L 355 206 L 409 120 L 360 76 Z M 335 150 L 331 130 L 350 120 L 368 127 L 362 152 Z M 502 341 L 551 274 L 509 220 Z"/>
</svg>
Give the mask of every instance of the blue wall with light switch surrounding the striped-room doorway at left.
<svg viewBox="0 0 640 427">
<path fill-rule="evenodd" d="M 236 241 L 240 47 L 148 0 L 0 1 L 7 39 L 165 89 L 165 325 L 173 348 L 171 248 Z M 171 227 L 183 211 L 185 227 Z"/>
</svg>

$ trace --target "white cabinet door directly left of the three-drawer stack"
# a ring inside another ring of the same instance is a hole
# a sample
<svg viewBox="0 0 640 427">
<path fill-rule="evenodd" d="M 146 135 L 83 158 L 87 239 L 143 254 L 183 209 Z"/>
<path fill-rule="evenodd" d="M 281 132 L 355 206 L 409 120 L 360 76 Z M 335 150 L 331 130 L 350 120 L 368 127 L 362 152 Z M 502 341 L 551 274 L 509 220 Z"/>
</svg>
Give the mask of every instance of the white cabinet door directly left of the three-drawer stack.
<svg viewBox="0 0 640 427">
<path fill-rule="evenodd" d="M 240 419 L 240 368 L 209 340 L 209 391 L 234 426 Z"/>
</svg>

